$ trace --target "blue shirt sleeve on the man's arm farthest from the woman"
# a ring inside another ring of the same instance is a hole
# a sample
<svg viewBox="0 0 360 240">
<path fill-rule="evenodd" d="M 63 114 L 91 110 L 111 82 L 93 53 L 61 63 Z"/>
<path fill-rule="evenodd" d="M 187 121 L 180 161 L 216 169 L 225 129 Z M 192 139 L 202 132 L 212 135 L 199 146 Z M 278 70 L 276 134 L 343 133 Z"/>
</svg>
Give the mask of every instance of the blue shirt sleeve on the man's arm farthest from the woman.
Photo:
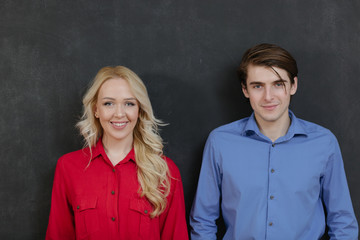
<svg viewBox="0 0 360 240">
<path fill-rule="evenodd" d="M 323 177 L 323 201 L 331 240 L 358 239 L 358 223 L 351 203 L 339 144 L 333 136 L 332 154 Z"/>
</svg>

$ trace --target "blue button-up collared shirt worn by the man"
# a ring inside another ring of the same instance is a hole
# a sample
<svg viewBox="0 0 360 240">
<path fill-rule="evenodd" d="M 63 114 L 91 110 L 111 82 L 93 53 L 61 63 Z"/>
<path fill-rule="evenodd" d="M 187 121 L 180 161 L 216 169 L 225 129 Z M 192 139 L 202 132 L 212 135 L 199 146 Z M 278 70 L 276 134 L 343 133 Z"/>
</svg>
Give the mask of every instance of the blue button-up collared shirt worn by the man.
<svg viewBox="0 0 360 240">
<path fill-rule="evenodd" d="M 252 114 L 211 132 L 190 216 L 191 239 L 355 240 L 353 211 L 340 148 L 327 129 L 295 117 L 274 143 Z M 325 217 L 325 211 L 327 218 Z"/>
</svg>

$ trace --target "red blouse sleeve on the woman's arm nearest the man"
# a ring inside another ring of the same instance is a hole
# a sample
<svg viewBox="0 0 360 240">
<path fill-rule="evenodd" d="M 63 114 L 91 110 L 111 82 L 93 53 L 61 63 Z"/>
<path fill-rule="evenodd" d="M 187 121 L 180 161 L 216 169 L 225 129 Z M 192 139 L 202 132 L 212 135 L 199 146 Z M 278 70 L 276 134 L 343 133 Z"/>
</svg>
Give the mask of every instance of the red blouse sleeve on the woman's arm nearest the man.
<svg viewBox="0 0 360 240">
<path fill-rule="evenodd" d="M 170 159 L 167 159 L 167 162 L 171 174 L 171 188 L 167 198 L 167 209 L 160 215 L 161 240 L 188 240 L 180 172 Z"/>
</svg>

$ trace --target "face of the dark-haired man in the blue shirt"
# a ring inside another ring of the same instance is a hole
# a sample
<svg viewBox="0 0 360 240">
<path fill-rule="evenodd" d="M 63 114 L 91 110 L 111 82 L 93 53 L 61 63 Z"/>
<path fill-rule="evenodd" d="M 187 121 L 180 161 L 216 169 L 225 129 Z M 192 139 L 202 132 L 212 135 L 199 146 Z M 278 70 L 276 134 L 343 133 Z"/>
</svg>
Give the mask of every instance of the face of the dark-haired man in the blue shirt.
<svg viewBox="0 0 360 240">
<path fill-rule="evenodd" d="M 273 69 L 249 65 L 246 87 L 242 88 L 260 126 L 284 122 L 288 118 L 290 96 L 294 95 L 297 89 L 296 77 L 294 84 L 291 84 L 285 70 L 277 67 Z"/>
</svg>

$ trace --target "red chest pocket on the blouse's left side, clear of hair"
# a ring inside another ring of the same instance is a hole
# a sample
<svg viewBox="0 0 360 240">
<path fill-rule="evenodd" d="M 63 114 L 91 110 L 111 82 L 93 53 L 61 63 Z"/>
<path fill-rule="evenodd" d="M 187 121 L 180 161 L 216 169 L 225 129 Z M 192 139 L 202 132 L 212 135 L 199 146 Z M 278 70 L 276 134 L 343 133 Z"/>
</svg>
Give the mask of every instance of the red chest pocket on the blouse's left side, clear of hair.
<svg viewBox="0 0 360 240">
<path fill-rule="evenodd" d="M 76 239 L 85 239 L 100 229 L 97 196 L 78 196 L 73 204 Z"/>
</svg>

